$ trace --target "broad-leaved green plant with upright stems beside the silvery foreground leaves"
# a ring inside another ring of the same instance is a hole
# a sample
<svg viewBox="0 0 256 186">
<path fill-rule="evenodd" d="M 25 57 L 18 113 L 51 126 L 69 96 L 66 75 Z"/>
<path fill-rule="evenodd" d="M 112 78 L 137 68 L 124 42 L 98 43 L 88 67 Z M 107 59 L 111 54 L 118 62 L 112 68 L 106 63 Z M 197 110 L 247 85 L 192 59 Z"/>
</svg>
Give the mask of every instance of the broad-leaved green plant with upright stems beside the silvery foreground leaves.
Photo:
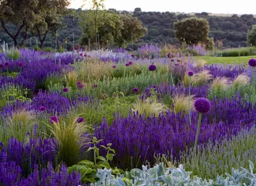
<svg viewBox="0 0 256 186">
<path fill-rule="evenodd" d="M 105 157 L 101 156 L 99 154 L 100 149 L 97 147 L 97 145 L 102 140 L 97 140 L 97 138 L 93 137 L 93 141 L 90 142 L 90 144 L 93 144 L 93 147 L 88 148 L 88 152 L 93 151 L 93 162 L 88 160 L 83 160 L 78 162 L 78 164 L 68 168 L 68 173 L 71 173 L 72 171 L 80 171 L 81 173 L 81 180 L 83 183 L 95 183 L 99 180 L 97 178 L 97 170 L 102 168 L 111 169 L 111 166 L 109 164 L 109 161 L 113 160 L 113 157 L 115 156 L 115 150 L 111 148 L 111 143 L 108 144 L 108 147 L 105 147 L 103 145 L 100 145 L 100 147 L 107 151 L 107 154 Z M 114 175 L 120 175 L 123 171 L 120 169 L 115 168 L 113 170 Z"/>
</svg>

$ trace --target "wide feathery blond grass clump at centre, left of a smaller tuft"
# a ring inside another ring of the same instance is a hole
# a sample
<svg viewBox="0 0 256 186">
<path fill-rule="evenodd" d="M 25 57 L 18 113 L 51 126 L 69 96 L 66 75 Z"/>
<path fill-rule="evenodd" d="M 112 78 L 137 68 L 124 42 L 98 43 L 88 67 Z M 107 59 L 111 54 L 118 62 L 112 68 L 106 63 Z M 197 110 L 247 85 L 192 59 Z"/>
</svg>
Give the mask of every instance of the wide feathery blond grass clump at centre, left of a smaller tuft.
<svg viewBox="0 0 256 186">
<path fill-rule="evenodd" d="M 138 111 L 139 114 L 145 113 L 146 117 L 151 117 L 152 114 L 158 117 L 159 113 L 165 112 L 167 107 L 158 103 L 154 97 L 147 97 L 147 99 L 137 99 L 132 103 L 132 111 Z"/>
</svg>

